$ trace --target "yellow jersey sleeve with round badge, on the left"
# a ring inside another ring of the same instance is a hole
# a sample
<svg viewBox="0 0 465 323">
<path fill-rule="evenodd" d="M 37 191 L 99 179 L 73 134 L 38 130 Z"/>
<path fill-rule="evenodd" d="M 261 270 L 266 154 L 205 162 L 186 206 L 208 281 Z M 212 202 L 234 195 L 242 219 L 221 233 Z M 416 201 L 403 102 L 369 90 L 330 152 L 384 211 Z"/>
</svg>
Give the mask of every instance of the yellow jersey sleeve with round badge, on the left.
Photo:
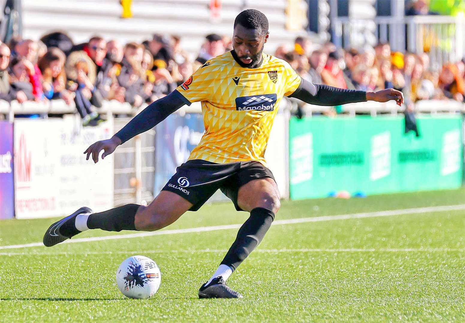
<svg viewBox="0 0 465 323">
<path fill-rule="evenodd" d="M 183 84 L 179 85 L 176 90 L 186 97 L 190 103 L 197 101 L 205 101 L 210 94 L 211 85 L 211 73 L 208 68 L 205 68 L 206 64 L 195 71 L 190 78 Z"/>
</svg>

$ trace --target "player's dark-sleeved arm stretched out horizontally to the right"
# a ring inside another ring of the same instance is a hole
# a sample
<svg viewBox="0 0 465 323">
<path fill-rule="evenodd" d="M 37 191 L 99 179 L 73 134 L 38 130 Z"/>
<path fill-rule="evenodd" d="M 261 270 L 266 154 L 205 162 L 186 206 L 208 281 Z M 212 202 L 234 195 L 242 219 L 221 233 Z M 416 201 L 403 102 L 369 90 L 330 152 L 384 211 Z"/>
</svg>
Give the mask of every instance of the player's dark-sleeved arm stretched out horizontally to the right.
<svg viewBox="0 0 465 323">
<path fill-rule="evenodd" d="M 341 105 L 345 103 L 365 102 L 368 100 L 378 102 L 395 100 L 399 105 L 404 103 L 402 92 L 394 89 L 365 92 L 340 89 L 324 84 L 313 84 L 304 79 L 301 79 L 299 87 L 289 97 L 295 97 L 306 103 L 316 105 Z"/>
</svg>

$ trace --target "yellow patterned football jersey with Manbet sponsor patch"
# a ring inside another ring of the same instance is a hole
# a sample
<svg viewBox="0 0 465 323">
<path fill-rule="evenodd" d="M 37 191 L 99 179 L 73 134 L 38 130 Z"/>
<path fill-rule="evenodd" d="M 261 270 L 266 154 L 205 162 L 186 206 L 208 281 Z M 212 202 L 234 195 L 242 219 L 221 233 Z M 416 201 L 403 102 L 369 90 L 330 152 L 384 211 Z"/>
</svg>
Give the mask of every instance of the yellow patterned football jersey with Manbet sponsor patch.
<svg viewBox="0 0 465 323">
<path fill-rule="evenodd" d="M 191 103 L 202 104 L 205 134 L 189 160 L 259 161 L 266 166 L 266 144 L 279 103 L 299 87 L 301 78 L 286 61 L 262 56 L 259 67 L 244 68 L 226 52 L 177 88 Z"/>
</svg>

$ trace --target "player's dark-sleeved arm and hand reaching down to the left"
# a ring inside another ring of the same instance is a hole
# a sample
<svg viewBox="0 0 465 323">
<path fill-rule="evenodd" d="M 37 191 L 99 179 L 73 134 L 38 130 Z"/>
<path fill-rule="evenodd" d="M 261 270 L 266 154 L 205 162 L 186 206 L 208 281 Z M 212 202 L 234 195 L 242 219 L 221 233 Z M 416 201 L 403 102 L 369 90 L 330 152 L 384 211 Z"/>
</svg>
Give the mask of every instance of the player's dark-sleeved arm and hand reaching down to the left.
<svg viewBox="0 0 465 323">
<path fill-rule="evenodd" d="M 191 104 L 182 94 L 174 90 L 166 97 L 150 103 L 142 112 L 135 116 L 126 126 L 116 133 L 113 137 L 107 140 L 100 140 L 93 143 L 86 149 L 84 154 L 87 154 L 86 160 L 92 155 L 93 162 L 99 161 L 100 151 L 104 151 L 102 159 L 115 151 L 116 147 L 133 138 L 152 129 L 157 124 L 166 119 L 167 116 L 178 110 L 185 104 Z"/>
</svg>

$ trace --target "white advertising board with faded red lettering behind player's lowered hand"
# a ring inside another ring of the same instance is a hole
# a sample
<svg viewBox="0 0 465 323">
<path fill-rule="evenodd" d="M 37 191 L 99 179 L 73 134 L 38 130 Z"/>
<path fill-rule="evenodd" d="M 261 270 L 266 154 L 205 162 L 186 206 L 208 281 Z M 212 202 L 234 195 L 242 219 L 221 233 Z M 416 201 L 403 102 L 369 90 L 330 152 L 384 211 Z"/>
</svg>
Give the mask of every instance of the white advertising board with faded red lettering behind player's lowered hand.
<svg viewBox="0 0 465 323">
<path fill-rule="evenodd" d="M 15 216 L 65 216 L 82 206 L 113 207 L 113 156 L 94 164 L 84 150 L 110 138 L 110 123 L 83 128 L 65 119 L 17 119 L 14 123 Z"/>
</svg>

